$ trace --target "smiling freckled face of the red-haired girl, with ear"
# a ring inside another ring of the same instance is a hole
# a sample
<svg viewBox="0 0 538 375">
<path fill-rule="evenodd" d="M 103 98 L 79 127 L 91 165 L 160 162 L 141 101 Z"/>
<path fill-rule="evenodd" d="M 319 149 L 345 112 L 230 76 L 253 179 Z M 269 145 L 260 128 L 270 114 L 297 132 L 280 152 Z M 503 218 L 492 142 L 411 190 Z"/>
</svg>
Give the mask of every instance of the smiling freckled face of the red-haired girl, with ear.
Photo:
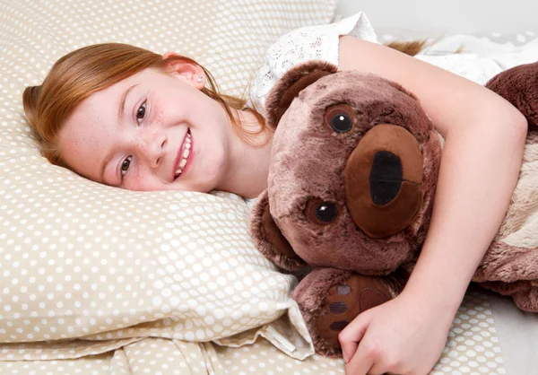
<svg viewBox="0 0 538 375">
<path fill-rule="evenodd" d="M 230 119 L 200 91 L 199 66 L 145 69 L 89 98 L 59 134 L 60 151 L 80 175 L 129 190 L 209 192 L 223 178 Z"/>
</svg>

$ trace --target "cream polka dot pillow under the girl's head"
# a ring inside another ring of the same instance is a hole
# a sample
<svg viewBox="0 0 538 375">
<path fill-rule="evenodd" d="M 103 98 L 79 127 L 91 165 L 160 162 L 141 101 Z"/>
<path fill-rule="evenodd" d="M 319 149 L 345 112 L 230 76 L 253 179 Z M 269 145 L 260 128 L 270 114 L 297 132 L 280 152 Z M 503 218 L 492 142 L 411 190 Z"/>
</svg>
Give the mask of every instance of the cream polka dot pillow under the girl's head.
<svg viewBox="0 0 538 375">
<path fill-rule="evenodd" d="M 289 352 L 298 353 L 301 343 L 310 348 L 290 299 L 294 279 L 255 249 L 239 196 L 129 192 L 52 166 L 30 135 L 22 91 L 41 83 L 74 48 L 118 41 L 194 57 L 225 92 L 240 95 L 265 48 L 284 32 L 330 22 L 334 6 L 334 0 L 0 6 L 1 343 L 161 336 L 233 345 L 263 335 Z"/>
</svg>

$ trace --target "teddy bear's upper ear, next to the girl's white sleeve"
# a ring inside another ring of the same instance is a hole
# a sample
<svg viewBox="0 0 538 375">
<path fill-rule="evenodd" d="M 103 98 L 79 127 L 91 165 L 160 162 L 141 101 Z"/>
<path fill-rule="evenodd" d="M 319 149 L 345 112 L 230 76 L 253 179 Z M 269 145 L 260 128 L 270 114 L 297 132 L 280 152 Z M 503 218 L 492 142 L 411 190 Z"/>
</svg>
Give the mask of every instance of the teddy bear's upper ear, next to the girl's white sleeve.
<svg viewBox="0 0 538 375">
<path fill-rule="evenodd" d="M 336 73 L 336 65 L 325 61 L 308 61 L 292 67 L 282 78 L 274 83 L 273 89 L 265 100 L 265 123 L 276 129 L 284 112 L 290 107 L 291 101 L 304 88 L 315 83 L 319 78 Z"/>
</svg>

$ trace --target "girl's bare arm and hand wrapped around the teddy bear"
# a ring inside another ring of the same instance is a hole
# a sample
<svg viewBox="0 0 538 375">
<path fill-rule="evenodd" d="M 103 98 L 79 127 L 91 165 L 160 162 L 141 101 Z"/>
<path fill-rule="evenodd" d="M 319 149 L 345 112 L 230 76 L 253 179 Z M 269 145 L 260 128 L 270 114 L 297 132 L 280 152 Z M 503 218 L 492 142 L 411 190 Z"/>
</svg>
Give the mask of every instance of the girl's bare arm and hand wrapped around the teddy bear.
<svg viewBox="0 0 538 375">
<path fill-rule="evenodd" d="M 481 85 L 392 48 L 343 36 L 339 50 L 340 69 L 378 74 L 413 92 L 445 138 L 430 230 L 404 292 L 339 336 L 348 373 L 426 373 L 506 214 L 526 120 Z"/>
</svg>

